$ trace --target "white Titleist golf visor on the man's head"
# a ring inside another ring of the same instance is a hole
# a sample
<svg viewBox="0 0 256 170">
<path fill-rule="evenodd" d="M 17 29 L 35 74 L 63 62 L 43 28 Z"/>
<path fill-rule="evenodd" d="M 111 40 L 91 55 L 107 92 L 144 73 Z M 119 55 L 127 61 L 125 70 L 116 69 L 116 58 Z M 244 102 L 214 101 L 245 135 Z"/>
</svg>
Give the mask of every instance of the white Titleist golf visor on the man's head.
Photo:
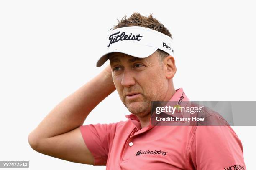
<svg viewBox="0 0 256 170">
<path fill-rule="evenodd" d="M 97 67 L 108 60 L 107 54 L 111 52 L 145 58 L 160 49 L 173 56 L 172 38 L 146 27 L 132 26 L 111 30 L 105 43 L 105 52 L 97 61 Z"/>
</svg>

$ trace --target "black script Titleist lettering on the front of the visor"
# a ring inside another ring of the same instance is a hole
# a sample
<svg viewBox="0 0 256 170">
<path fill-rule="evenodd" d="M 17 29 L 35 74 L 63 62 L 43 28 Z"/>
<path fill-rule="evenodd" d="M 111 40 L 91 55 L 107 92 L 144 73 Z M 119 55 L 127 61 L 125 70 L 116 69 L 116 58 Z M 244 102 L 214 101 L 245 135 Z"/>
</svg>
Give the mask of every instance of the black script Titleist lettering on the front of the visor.
<svg viewBox="0 0 256 170">
<path fill-rule="evenodd" d="M 140 41 L 141 39 L 139 39 L 140 37 L 142 37 L 140 34 L 138 35 L 132 35 L 132 33 L 130 35 L 127 35 L 125 32 L 122 32 L 120 35 L 118 35 L 120 33 L 120 31 L 112 34 L 109 36 L 108 40 L 110 40 L 109 45 L 107 47 L 109 47 L 111 44 L 123 40 L 137 40 Z"/>
</svg>

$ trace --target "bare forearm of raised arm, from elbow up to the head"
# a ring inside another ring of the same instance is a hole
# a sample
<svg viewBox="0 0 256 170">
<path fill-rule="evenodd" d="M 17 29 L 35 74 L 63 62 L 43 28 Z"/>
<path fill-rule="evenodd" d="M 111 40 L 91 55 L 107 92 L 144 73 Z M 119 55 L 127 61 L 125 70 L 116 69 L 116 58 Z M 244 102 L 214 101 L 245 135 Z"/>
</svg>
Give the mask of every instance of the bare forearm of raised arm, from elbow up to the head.
<svg viewBox="0 0 256 170">
<path fill-rule="evenodd" d="M 60 135 L 82 125 L 92 109 L 115 90 L 108 67 L 56 105 L 31 132 L 34 140 Z"/>
</svg>

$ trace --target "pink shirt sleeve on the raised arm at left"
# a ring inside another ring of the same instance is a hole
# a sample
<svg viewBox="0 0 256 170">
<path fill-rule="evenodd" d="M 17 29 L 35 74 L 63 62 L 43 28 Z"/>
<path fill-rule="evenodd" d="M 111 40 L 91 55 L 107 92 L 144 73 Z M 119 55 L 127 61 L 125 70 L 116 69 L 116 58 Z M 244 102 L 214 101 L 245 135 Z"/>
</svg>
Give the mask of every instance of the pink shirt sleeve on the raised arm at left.
<svg viewBox="0 0 256 170">
<path fill-rule="evenodd" d="M 84 143 L 94 157 L 94 166 L 106 165 L 110 143 L 118 123 L 81 125 Z"/>
</svg>

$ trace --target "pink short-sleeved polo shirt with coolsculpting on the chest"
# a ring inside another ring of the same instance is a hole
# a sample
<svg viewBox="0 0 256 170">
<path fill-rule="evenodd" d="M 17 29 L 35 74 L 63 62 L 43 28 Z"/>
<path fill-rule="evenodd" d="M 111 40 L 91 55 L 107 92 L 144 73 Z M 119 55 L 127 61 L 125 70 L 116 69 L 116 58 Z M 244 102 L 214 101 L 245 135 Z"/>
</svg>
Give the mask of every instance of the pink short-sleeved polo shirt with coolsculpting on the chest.
<svg viewBox="0 0 256 170">
<path fill-rule="evenodd" d="M 189 101 L 182 88 L 170 101 Z M 81 125 L 93 165 L 107 170 L 246 170 L 241 140 L 230 126 L 154 126 L 136 115 L 110 124 Z M 150 120 L 151 122 L 151 120 Z"/>
</svg>

